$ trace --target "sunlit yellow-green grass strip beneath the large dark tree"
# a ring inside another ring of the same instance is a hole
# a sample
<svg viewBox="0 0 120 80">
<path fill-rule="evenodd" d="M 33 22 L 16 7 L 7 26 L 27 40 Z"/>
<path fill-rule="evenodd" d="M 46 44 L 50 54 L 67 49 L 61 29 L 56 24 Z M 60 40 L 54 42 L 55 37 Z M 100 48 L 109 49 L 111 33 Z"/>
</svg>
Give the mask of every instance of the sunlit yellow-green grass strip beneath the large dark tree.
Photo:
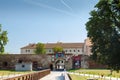
<svg viewBox="0 0 120 80">
<path fill-rule="evenodd" d="M 78 72 L 82 74 L 95 74 L 95 75 L 104 75 L 104 76 L 112 76 L 112 77 L 119 77 L 120 73 L 113 71 L 113 74 L 110 75 L 110 70 L 107 69 L 77 69 L 77 70 L 69 70 L 70 72 Z"/>
</svg>

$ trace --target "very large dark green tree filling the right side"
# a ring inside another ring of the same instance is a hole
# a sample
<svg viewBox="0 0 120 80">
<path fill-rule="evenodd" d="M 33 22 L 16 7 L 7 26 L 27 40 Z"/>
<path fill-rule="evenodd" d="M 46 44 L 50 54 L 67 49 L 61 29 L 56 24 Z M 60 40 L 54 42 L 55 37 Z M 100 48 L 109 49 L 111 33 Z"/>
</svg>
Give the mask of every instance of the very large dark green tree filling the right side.
<svg viewBox="0 0 120 80">
<path fill-rule="evenodd" d="M 120 70 L 120 0 L 100 0 L 86 23 L 92 59 Z"/>
</svg>

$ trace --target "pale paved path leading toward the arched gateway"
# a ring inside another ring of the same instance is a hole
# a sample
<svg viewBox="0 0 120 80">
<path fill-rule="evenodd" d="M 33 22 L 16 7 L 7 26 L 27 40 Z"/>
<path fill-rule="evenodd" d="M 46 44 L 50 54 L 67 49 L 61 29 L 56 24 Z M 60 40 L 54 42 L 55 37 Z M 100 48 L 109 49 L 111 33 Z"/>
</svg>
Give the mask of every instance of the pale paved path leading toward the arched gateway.
<svg viewBox="0 0 120 80">
<path fill-rule="evenodd" d="M 51 71 L 51 73 L 40 80 L 64 80 L 64 72 L 62 71 Z"/>
</svg>

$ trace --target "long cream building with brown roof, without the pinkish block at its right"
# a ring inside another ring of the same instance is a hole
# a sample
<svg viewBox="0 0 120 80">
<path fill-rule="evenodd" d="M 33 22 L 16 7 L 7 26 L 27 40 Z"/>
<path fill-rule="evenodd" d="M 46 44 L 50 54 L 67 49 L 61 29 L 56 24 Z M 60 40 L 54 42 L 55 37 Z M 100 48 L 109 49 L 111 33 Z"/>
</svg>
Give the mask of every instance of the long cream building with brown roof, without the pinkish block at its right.
<svg viewBox="0 0 120 80">
<path fill-rule="evenodd" d="M 83 54 L 83 45 L 84 43 L 46 43 L 45 49 L 46 54 L 51 54 L 53 52 L 53 48 L 56 46 L 61 46 L 63 48 L 63 51 L 66 54 Z M 25 47 L 21 48 L 21 54 L 34 54 L 36 44 L 28 44 Z"/>
</svg>

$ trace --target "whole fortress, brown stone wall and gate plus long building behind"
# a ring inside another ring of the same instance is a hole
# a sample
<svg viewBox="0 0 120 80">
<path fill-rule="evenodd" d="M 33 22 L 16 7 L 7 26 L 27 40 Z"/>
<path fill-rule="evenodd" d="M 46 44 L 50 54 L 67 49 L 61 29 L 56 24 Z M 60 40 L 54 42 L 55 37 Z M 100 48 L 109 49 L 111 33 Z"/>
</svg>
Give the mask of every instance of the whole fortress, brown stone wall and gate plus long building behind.
<svg viewBox="0 0 120 80">
<path fill-rule="evenodd" d="M 53 52 L 55 46 L 61 46 L 62 52 Z M 28 44 L 21 48 L 21 54 L 0 55 L 0 69 L 13 70 L 64 70 L 73 68 L 90 68 L 89 56 L 91 42 L 84 43 L 46 43 L 46 54 L 34 54 L 36 44 Z M 92 64 L 93 66 L 93 64 Z"/>
</svg>

